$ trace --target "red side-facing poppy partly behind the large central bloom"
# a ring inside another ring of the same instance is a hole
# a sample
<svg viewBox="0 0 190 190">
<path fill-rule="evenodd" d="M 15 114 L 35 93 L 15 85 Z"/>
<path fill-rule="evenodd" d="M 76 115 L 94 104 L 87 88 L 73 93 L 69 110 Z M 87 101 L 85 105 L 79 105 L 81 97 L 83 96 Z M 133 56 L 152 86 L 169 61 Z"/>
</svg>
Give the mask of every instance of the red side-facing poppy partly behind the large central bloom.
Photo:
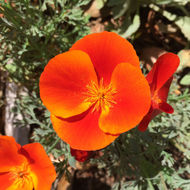
<svg viewBox="0 0 190 190">
<path fill-rule="evenodd" d="M 173 74 L 179 66 L 179 57 L 173 53 L 160 56 L 152 70 L 146 76 L 151 90 L 151 107 L 148 114 L 140 122 L 138 129 L 145 131 L 149 122 L 158 114 L 173 113 L 173 108 L 166 103 Z"/>
</svg>

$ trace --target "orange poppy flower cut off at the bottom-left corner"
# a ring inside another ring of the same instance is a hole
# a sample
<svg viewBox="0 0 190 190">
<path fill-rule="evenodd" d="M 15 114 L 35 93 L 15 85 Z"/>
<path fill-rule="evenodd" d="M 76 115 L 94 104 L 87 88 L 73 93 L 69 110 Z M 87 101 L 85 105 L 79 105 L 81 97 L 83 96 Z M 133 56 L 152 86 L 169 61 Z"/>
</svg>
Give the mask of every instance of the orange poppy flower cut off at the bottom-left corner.
<svg viewBox="0 0 190 190">
<path fill-rule="evenodd" d="M 41 144 L 21 147 L 13 137 L 0 136 L 0 155 L 0 189 L 51 189 L 56 172 Z"/>
</svg>

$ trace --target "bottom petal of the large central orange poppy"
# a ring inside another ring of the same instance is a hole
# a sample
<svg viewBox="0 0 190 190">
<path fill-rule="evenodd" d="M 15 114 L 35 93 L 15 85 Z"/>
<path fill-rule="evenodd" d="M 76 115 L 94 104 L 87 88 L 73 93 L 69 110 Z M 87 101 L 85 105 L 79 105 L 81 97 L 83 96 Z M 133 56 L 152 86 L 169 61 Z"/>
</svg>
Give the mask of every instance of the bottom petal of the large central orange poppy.
<svg viewBox="0 0 190 190">
<path fill-rule="evenodd" d="M 72 148 L 78 150 L 98 150 L 108 146 L 117 136 L 107 135 L 99 129 L 98 112 L 91 112 L 78 121 L 68 122 L 51 116 L 54 130 Z"/>
</svg>

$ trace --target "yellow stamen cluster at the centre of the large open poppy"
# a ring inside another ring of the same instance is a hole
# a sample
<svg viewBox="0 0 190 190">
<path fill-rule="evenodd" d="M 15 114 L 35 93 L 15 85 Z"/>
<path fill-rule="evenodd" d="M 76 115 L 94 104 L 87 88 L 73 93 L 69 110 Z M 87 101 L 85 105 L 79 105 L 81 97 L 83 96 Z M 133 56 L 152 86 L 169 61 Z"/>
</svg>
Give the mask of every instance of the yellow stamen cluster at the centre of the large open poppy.
<svg viewBox="0 0 190 190">
<path fill-rule="evenodd" d="M 103 78 L 100 80 L 99 85 L 94 81 L 91 81 L 86 88 L 88 91 L 85 93 L 87 96 L 85 102 L 90 102 L 91 105 L 94 105 L 92 111 L 108 109 L 112 107 L 113 104 L 116 104 L 113 99 L 116 94 L 116 90 L 112 88 L 111 84 L 105 87 L 103 84 Z"/>
</svg>

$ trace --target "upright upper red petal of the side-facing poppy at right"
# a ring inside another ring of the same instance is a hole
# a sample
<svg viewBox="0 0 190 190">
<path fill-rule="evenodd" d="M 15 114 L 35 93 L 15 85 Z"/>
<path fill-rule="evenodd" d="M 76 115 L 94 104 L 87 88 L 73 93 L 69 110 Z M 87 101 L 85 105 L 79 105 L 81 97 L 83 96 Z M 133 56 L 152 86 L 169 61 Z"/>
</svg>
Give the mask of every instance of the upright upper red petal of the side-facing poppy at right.
<svg viewBox="0 0 190 190">
<path fill-rule="evenodd" d="M 151 91 L 160 89 L 177 70 L 179 57 L 173 53 L 166 53 L 158 58 L 152 70 L 146 76 Z"/>
</svg>

